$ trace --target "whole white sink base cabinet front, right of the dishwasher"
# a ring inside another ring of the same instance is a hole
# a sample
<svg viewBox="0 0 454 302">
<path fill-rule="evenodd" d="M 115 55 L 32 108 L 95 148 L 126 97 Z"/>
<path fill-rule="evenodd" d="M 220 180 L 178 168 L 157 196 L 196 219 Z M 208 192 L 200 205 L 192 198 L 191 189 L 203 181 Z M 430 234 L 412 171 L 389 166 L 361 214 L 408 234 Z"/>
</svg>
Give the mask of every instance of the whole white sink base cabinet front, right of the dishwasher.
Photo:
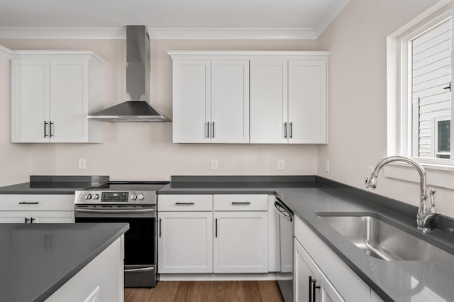
<svg viewBox="0 0 454 302">
<path fill-rule="evenodd" d="M 294 237 L 295 301 L 381 301 L 377 294 L 297 216 Z M 311 300 L 308 300 L 309 276 L 316 279 L 315 286 L 320 286 L 315 289 L 316 298 L 314 299 L 312 294 Z"/>
</svg>

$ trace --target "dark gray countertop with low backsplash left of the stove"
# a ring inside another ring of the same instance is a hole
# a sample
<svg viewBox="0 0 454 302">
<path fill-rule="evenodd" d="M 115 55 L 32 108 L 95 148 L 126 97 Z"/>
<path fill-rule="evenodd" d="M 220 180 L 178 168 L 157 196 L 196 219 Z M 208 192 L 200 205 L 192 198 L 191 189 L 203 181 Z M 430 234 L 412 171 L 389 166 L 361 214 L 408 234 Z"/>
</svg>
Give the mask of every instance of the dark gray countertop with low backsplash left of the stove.
<svg viewBox="0 0 454 302">
<path fill-rule="evenodd" d="M 22 184 L 0 187 L 0 194 L 74 194 L 109 181 L 108 176 L 42 176 L 32 175 Z"/>
</svg>

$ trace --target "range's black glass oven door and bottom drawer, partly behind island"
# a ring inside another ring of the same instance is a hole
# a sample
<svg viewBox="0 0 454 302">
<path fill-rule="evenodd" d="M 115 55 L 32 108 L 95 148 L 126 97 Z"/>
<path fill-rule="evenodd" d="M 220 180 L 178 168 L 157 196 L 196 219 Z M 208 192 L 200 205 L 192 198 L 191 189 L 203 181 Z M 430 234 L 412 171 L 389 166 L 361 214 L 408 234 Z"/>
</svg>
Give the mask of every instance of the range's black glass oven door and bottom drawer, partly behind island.
<svg viewBox="0 0 454 302">
<path fill-rule="evenodd" d="M 76 223 L 129 223 L 125 238 L 125 287 L 156 286 L 155 208 L 77 206 Z"/>
</svg>

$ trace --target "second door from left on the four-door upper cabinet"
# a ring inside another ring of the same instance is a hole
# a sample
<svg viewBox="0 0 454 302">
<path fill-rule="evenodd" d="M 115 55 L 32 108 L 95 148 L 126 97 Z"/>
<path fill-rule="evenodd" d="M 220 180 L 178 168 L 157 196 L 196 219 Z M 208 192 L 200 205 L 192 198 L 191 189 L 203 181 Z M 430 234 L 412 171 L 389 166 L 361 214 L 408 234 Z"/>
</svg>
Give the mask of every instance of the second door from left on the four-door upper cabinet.
<svg viewBox="0 0 454 302">
<path fill-rule="evenodd" d="M 211 142 L 249 142 L 249 61 L 211 61 Z"/>
</svg>

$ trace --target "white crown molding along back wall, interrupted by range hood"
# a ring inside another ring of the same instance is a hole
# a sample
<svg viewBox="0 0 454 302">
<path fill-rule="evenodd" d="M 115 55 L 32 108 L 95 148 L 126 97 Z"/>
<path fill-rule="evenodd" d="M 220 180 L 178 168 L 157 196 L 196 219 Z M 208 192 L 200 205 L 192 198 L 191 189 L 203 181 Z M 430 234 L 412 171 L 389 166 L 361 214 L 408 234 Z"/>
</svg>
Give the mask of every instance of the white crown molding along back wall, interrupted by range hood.
<svg viewBox="0 0 454 302">
<path fill-rule="evenodd" d="M 311 28 L 148 28 L 162 40 L 315 40 Z M 126 28 L 0 28 L 4 39 L 126 39 Z"/>
</svg>

